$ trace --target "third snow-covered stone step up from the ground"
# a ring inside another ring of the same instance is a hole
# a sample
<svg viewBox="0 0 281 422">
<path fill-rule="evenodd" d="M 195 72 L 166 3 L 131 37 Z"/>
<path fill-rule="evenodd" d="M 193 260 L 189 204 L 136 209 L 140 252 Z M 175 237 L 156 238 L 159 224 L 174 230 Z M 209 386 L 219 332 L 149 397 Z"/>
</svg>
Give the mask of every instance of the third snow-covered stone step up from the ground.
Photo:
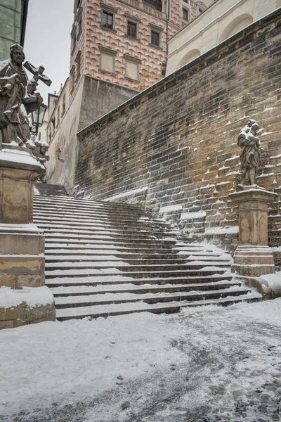
<svg viewBox="0 0 281 422">
<path fill-rule="evenodd" d="M 137 295 L 145 293 L 172 293 L 172 292 L 190 292 L 195 290 L 218 290 L 221 288 L 230 288 L 241 286 L 239 281 L 228 281 L 227 279 L 216 281 L 215 283 L 190 283 L 190 284 L 164 284 L 150 285 L 143 284 L 134 286 L 132 283 L 115 284 L 105 286 L 60 286 L 51 288 L 55 298 L 70 298 L 70 296 L 93 296 L 107 295 L 107 293 L 133 293 Z"/>
</svg>

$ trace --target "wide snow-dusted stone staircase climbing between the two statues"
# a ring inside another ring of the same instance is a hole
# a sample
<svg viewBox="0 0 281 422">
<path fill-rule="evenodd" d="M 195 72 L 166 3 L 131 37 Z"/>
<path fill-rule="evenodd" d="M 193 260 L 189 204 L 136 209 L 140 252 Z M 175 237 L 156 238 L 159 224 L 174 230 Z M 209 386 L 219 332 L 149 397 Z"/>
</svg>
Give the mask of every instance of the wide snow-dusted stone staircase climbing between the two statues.
<svg viewBox="0 0 281 422">
<path fill-rule="evenodd" d="M 137 205 L 35 195 L 34 223 L 60 321 L 261 298 L 233 279 L 230 255 Z"/>
</svg>

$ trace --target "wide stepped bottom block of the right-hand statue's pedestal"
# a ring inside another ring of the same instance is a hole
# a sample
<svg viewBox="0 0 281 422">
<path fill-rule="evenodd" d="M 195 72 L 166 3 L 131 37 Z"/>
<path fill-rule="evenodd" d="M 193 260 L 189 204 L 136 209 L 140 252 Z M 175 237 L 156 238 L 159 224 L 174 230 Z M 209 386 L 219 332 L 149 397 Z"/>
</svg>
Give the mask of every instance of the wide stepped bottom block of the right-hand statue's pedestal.
<svg viewBox="0 0 281 422">
<path fill-rule="evenodd" d="M 273 252 L 268 246 L 239 245 L 231 271 L 240 276 L 259 277 L 275 272 Z"/>
</svg>

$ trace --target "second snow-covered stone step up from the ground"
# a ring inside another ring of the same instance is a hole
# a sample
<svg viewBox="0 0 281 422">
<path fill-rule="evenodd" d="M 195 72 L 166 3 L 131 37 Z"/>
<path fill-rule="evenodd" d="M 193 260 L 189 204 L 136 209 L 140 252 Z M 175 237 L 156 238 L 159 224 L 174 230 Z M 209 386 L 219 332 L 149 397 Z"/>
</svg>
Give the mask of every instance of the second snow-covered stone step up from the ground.
<svg viewBox="0 0 281 422">
<path fill-rule="evenodd" d="M 63 309 L 69 307 L 88 307 L 88 306 L 102 306 L 111 305 L 113 303 L 159 303 L 159 302 L 181 302 L 183 300 L 203 300 L 203 299 L 218 299 L 226 298 L 227 296 L 239 296 L 249 293 L 249 289 L 240 288 L 239 286 L 232 288 L 225 288 L 219 290 L 201 290 L 197 292 L 175 292 L 175 293 L 145 293 L 136 295 L 133 293 L 104 293 L 103 295 L 93 296 L 76 296 L 71 298 L 55 298 L 56 309 Z"/>
</svg>

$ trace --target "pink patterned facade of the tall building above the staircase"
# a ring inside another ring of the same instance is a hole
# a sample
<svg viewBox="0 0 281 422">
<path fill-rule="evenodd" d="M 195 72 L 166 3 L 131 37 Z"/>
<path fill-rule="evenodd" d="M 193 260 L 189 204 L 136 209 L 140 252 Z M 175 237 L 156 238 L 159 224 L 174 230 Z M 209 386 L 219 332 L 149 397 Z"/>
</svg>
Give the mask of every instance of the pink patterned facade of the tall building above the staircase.
<svg viewBox="0 0 281 422">
<path fill-rule="evenodd" d="M 143 91 L 162 79 L 166 66 L 167 40 L 188 23 L 182 18 L 183 6 L 188 10 L 189 21 L 200 14 L 202 6 L 192 0 L 171 0 L 169 10 L 167 2 L 162 5 L 159 1 L 159 6 L 155 5 L 157 1 L 80 1 L 72 28 L 72 97 L 77 91 L 81 75 L 136 91 Z M 103 12 L 113 15 L 112 27 L 103 25 Z M 128 21 L 136 23 L 136 37 L 127 35 Z M 153 29 L 159 33 L 159 46 L 152 45 Z M 113 57 L 115 63 L 112 71 L 101 68 L 102 53 Z M 126 76 L 126 60 L 138 65 L 138 77 L 135 79 Z"/>
</svg>

